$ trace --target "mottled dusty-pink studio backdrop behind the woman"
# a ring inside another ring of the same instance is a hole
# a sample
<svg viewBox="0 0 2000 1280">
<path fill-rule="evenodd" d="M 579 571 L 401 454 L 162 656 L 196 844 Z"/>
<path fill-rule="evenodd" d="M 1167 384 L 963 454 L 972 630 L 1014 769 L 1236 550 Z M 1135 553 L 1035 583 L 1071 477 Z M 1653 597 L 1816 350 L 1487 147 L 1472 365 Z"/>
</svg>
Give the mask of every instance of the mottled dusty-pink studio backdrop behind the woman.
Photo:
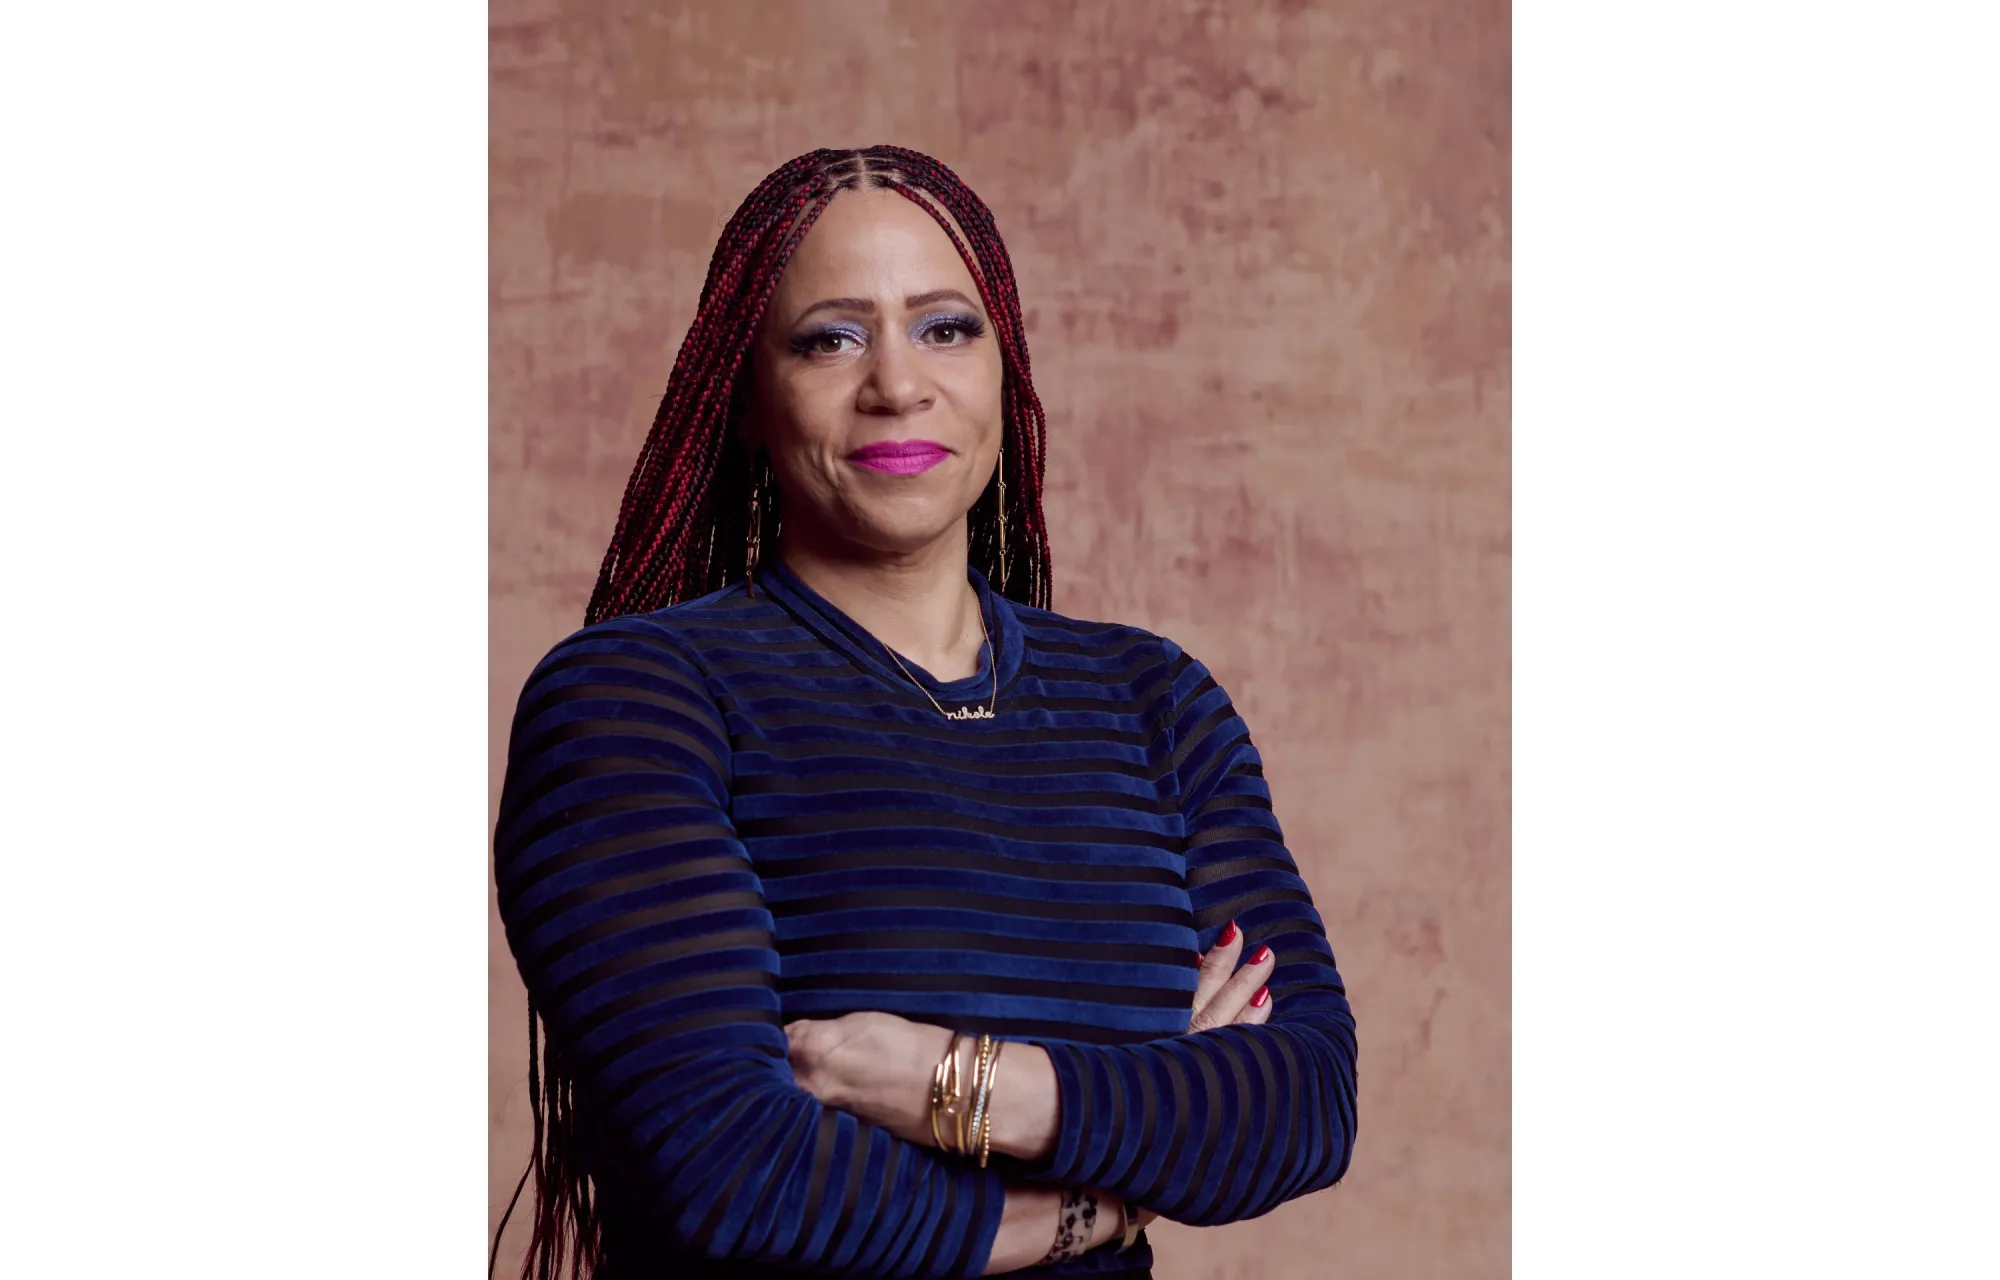
<svg viewBox="0 0 2000 1280">
<path fill-rule="evenodd" d="M 1360 1022 L 1346 1182 L 1160 1224 L 1158 1274 L 1506 1274 L 1506 0 L 490 14 L 494 802 L 730 210 L 816 146 L 930 152 L 1018 270 L 1056 608 L 1236 696 Z M 524 1078 L 494 918 L 494 1220 Z"/>
</svg>

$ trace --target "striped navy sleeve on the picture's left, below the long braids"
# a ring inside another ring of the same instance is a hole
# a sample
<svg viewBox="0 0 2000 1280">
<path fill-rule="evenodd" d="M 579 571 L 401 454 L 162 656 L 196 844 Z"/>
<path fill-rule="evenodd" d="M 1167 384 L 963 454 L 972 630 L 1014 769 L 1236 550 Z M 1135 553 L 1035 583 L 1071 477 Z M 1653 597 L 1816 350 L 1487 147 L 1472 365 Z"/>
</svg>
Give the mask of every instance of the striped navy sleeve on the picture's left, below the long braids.
<svg viewBox="0 0 2000 1280">
<path fill-rule="evenodd" d="M 762 884 L 704 672 L 644 618 L 578 632 L 514 716 L 500 916 L 596 1144 L 680 1250 L 814 1274 L 976 1276 L 998 1172 L 792 1078 Z"/>
</svg>

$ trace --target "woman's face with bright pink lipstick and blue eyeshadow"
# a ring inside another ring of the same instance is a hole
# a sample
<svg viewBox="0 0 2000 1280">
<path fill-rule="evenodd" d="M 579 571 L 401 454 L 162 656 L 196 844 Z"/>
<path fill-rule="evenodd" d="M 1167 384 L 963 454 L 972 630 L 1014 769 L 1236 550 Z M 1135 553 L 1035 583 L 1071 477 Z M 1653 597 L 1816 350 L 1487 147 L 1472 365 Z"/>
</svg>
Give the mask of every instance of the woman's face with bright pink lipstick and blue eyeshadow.
<svg viewBox="0 0 2000 1280">
<path fill-rule="evenodd" d="M 764 314 L 744 434 L 770 450 L 786 540 L 896 556 L 948 536 L 992 480 L 1000 344 L 928 212 L 842 192 Z"/>
</svg>

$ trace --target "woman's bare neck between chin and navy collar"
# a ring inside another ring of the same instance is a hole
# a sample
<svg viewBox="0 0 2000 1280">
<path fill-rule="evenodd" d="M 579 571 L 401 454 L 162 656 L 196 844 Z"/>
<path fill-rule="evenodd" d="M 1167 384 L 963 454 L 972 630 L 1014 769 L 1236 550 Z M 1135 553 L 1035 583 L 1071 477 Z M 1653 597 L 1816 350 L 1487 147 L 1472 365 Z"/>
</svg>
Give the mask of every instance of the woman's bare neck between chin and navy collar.
<svg viewBox="0 0 2000 1280">
<path fill-rule="evenodd" d="M 784 566 L 828 604 L 938 680 L 962 680 L 980 666 L 986 630 L 980 598 L 966 580 L 966 530 L 914 552 L 862 552 L 820 538 L 778 542 Z"/>
</svg>

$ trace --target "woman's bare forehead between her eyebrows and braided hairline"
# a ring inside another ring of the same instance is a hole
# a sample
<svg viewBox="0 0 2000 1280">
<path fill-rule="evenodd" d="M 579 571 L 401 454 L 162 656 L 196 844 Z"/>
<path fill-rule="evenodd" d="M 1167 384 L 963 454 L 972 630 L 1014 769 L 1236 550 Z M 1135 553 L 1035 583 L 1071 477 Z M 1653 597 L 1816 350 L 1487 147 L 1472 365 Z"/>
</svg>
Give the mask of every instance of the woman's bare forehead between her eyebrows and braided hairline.
<svg viewBox="0 0 2000 1280">
<path fill-rule="evenodd" d="M 938 220 L 908 196 L 860 190 L 828 202 L 792 252 L 772 300 L 784 306 L 832 296 L 902 298 L 938 288 L 978 298 L 966 260 Z"/>
</svg>

